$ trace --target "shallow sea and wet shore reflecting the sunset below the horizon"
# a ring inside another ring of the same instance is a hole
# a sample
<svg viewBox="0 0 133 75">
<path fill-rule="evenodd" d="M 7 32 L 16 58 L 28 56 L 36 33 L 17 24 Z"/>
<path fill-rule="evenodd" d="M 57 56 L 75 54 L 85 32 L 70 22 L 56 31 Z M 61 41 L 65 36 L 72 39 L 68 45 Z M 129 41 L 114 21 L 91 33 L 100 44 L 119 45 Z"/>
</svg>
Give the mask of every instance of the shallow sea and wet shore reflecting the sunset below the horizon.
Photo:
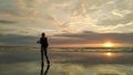
<svg viewBox="0 0 133 75">
<path fill-rule="evenodd" d="M 133 47 L 0 46 L 0 75 L 133 75 Z"/>
</svg>

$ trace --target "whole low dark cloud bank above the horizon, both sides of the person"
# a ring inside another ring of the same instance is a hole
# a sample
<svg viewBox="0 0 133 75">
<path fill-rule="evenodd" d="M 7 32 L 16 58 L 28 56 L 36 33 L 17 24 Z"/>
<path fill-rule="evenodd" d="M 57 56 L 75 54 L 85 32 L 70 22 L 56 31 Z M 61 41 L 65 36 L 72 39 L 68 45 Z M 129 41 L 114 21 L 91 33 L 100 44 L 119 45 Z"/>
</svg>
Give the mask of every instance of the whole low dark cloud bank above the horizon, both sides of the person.
<svg viewBox="0 0 133 75">
<path fill-rule="evenodd" d="M 40 36 L 0 34 L 0 43 L 4 44 L 35 44 Z M 49 36 L 52 44 L 94 44 L 112 41 L 115 43 L 133 44 L 133 33 L 96 33 L 85 31 L 82 33 L 55 34 Z"/>
</svg>

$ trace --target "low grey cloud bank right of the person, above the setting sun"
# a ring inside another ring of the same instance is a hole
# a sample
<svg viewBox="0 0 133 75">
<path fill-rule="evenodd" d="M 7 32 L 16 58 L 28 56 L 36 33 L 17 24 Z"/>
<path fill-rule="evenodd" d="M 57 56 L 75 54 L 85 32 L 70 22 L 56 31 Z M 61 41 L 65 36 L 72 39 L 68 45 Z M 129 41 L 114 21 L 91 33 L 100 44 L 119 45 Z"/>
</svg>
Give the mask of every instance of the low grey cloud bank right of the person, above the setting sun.
<svg viewBox="0 0 133 75">
<path fill-rule="evenodd" d="M 133 33 L 96 33 L 85 31 L 82 33 L 69 33 L 69 34 L 57 34 L 52 40 L 52 43 L 68 44 L 68 43 L 102 43 L 105 41 L 113 41 L 117 43 L 130 43 L 133 44 L 132 41 Z"/>
</svg>

